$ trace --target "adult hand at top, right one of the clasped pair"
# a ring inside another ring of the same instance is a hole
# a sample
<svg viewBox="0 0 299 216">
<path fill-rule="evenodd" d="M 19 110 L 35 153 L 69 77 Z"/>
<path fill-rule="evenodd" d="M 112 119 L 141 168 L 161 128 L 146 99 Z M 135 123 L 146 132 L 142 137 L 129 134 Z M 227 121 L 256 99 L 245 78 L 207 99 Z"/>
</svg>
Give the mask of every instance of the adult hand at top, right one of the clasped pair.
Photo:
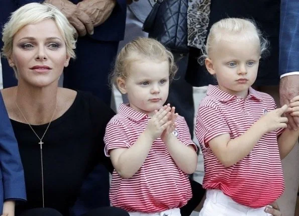
<svg viewBox="0 0 299 216">
<path fill-rule="evenodd" d="M 77 4 L 77 8 L 89 16 L 95 27 L 110 17 L 115 5 L 116 0 L 83 0 Z"/>
</svg>

